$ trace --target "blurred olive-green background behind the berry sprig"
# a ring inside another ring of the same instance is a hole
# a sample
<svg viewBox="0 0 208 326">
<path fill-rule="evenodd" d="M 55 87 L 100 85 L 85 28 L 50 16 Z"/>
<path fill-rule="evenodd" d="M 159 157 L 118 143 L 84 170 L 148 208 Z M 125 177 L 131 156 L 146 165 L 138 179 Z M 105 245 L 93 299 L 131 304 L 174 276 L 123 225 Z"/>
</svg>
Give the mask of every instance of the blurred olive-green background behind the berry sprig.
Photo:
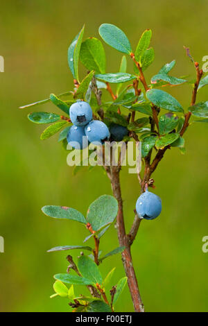
<svg viewBox="0 0 208 326">
<path fill-rule="evenodd" d="M 190 46 L 202 64 L 202 57 L 208 55 L 207 10 L 205 0 L 1 1 L 0 55 L 5 59 L 5 72 L 0 74 L 0 235 L 5 239 L 5 253 L 0 253 L 1 311 L 69 311 L 67 300 L 49 298 L 53 274 L 66 271 L 67 252 L 46 250 L 81 244 L 87 230 L 78 223 L 44 216 L 40 208 L 69 205 L 85 214 L 94 199 L 111 194 L 110 182 L 99 168 L 73 176 L 57 136 L 40 141 L 44 127 L 28 121 L 30 111 L 18 107 L 72 89 L 67 48 L 84 23 L 85 37 L 99 37 L 98 26 L 103 22 L 116 24 L 133 49 L 141 33 L 151 28 L 155 62 L 146 71 L 148 80 L 173 59 L 177 61 L 174 76 L 194 76 L 183 45 Z M 107 72 L 118 71 L 121 53 L 104 46 Z M 80 71 L 84 76 L 85 69 Z M 132 72 L 130 60 L 128 72 Z M 188 107 L 190 85 L 168 92 Z M 206 87 L 198 94 L 198 101 L 205 100 Z M 52 104 L 35 110 L 57 112 Z M 202 237 L 208 234 L 205 125 L 191 126 L 185 134 L 186 155 L 177 149 L 167 151 L 154 174 L 163 211 L 153 221 L 142 221 L 132 246 L 146 311 L 208 311 L 208 253 L 202 252 Z M 139 196 L 137 176 L 124 169 L 121 185 L 128 230 Z M 101 241 L 103 253 L 117 245 L 116 230 L 111 227 Z M 71 254 L 76 257 L 79 252 Z M 119 255 L 106 259 L 101 271 L 105 275 L 114 266 L 116 283 L 124 276 Z M 132 309 L 126 286 L 116 311 Z"/>
</svg>

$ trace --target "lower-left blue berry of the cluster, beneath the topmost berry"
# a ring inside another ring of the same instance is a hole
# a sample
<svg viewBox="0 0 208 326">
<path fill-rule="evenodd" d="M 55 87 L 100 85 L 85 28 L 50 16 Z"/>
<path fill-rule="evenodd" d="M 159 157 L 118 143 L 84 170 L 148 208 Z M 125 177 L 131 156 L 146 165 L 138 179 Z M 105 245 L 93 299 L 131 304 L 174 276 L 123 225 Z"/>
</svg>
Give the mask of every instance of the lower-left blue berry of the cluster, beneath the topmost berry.
<svg viewBox="0 0 208 326">
<path fill-rule="evenodd" d="M 73 148 L 86 148 L 88 146 L 88 140 L 85 135 L 85 128 L 82 126 L 71 126 L 67 135 L 67 141 Z"/>
</svg>

